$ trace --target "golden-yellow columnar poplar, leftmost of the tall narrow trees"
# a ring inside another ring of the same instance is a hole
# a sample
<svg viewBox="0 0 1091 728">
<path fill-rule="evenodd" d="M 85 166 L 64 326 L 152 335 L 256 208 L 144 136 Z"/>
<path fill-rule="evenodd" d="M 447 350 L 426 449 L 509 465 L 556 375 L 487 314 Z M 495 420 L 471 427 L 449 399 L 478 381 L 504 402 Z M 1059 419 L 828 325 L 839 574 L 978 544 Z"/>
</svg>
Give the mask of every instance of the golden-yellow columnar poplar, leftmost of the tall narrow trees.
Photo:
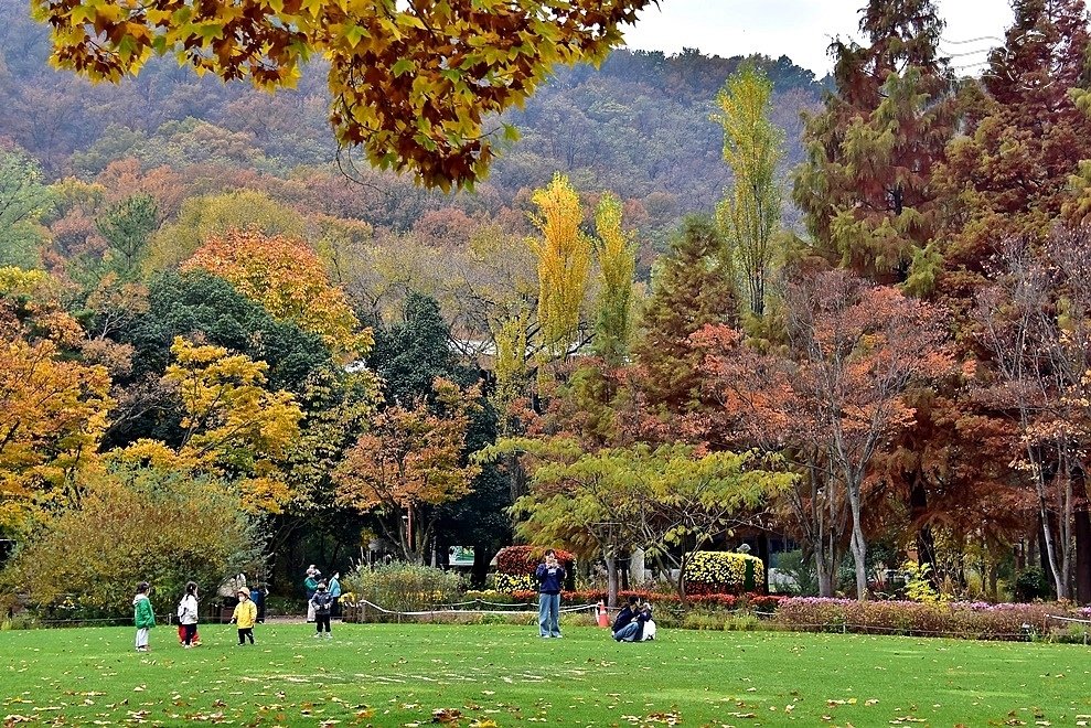
<svg viewBox="0 0 1091 728">
<path fill-rule="evenodd" d="M 547 188 L 535 190 L 534 224 L 541 238 L 527 245 L 538 260 L 538 325 L 542 343 L 554 357 L 567 356 L 578 341 L 580 307 L 591 270 L 591 239 L 579 228 L 584 213 L 568 178 L 557 173 Z"/>
</svg>

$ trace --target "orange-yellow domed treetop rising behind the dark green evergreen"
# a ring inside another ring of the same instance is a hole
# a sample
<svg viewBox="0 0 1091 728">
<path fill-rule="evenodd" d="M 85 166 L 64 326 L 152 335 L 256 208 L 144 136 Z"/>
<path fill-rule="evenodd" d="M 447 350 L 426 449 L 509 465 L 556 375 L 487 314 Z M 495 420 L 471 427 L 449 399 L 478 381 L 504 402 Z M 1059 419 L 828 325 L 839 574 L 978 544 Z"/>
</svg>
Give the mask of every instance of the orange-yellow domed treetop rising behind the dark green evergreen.
<svg viewBox="0 0 1091 728">
<path fill-rule="evenodd" d="M 275 319 L 322 336 L 343 361 L 359 358 L 374 343 L 344 291 L 330 283 L 322 261 L 302 240 L 228 231 L 212 236 L 182 268 L 223 278 Z"/>
</svg>

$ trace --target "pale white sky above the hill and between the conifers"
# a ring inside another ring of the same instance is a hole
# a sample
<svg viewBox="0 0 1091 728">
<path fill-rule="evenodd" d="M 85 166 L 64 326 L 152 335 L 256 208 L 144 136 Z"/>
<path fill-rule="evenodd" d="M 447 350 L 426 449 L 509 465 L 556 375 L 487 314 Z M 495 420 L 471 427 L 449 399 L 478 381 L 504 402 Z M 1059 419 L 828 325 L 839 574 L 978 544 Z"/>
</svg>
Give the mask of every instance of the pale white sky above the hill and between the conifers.
<svg viewBox="0 0 1091 728">
<path fill-rule="evenodd" d="M 625 31 L 633 49 L 673 54 L 683 47 L 706 55 L 763 53 L 789 56 L 816 76 L 832 69 L 826 46 L 835 35 L 857 38 L 857 10 L 866 0 L 660 0 Z M 966 75 L 999 45 L 1012 21 L 1008 0 L 938 0 L 946 21 L 940 49 Z M 993 39 L 983 36 L 995 36 Z"/>
</svg>

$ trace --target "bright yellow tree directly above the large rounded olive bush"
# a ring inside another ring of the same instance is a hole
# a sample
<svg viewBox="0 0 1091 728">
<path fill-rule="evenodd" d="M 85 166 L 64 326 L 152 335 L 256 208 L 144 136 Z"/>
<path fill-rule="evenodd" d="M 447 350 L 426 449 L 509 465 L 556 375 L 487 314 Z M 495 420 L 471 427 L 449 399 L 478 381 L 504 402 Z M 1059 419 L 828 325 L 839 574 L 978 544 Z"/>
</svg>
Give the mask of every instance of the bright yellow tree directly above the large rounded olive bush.
<svg viewBox="0 0 1091 728">
<path fill-rule="evenodd" d="M 163 383 L 181 398 L 177 447 L 138 440 L 111 453 L 120 461 L 234 479 L 246 507 L 278 513 L 291 499 L 282 469 L 303 413 L 288 392 L 264 388 L 268 365 L 222 346 L 175 338 Z"/>
</svg>

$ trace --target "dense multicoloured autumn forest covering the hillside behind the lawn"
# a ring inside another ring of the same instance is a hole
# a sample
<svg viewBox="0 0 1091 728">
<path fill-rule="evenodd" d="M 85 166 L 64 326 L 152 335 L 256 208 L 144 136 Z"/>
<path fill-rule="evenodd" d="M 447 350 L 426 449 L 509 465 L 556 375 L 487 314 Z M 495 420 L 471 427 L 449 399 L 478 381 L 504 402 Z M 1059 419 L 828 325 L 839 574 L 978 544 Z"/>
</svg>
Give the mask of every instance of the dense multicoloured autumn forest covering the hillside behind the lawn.
<svg viewBox="0 0 1091 728">
<path fill-rule="evenodd" d="M 445 194 L 339 150 L 321 63 L 90 85 L 6 6 L 3 578 L 108 611 L 133 549 L 288 591 L 518 540 L 684 600 L 789 536 L 821 596 L 1091 601 L 1088 14 L 1013 9 L 980 78 L 930 0 L 871 0 L 822 82 L 561 65 Z"/>
</svg>

